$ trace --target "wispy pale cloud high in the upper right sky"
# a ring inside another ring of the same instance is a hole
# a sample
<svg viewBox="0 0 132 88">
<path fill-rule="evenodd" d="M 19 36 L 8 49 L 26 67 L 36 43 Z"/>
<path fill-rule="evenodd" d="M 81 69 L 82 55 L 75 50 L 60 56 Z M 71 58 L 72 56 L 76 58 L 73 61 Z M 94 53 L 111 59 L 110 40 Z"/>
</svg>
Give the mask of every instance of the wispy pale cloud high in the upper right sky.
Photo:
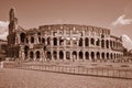
<svg viewBox="0 0 132 88">
<path fill-rule="evenodd" d="M 127 25 L 132 24 L 132 19 L 125 19 L 125 14 L 120 15 L 114 22 L 112 22 L 112 25 Z"/>
</svg>

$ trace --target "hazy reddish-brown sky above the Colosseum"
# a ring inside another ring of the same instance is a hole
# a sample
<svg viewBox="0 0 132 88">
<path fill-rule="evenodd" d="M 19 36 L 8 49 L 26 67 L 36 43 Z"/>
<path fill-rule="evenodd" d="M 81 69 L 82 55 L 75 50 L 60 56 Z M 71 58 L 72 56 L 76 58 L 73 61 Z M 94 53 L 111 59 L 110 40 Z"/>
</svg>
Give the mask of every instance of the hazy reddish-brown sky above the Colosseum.
<svg viewBox="0 0 132 88">
<path fill-rule="evenodd" d="M 23 29 L 45 24 L 84 24 L 111 30 L 132 40 L 132 0 L 0 0 L 0 37 L 4 38 L 9 10 L 14 7 Z"/>
</svg>

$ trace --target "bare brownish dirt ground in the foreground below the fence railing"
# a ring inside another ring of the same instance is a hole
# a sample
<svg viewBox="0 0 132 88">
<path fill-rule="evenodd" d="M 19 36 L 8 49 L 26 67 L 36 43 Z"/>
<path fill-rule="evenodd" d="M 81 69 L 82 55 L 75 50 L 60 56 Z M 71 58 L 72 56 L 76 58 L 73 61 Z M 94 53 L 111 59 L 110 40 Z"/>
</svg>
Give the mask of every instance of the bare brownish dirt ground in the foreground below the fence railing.
<svg viewBox="0 0 132 88">
<path fill-rule="evenodd" d="M 0 88 L 132 88 L 132 80 L 2 68 Z"/>
</svg>

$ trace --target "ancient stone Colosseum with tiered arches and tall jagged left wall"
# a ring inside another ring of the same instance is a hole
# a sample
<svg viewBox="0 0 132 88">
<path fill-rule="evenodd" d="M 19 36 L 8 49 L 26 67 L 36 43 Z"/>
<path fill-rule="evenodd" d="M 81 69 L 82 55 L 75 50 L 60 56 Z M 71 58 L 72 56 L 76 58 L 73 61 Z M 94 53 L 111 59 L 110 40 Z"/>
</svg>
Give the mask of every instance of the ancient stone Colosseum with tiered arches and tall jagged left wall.
<svg viewBox="0 0 132 88">
<path fill-rule="evenodd" d="M 9 13 L 8 57 L 22 61 L 90 61 L 121 59 L 121 37 L 109 29 L 78 24 L 41 25 L 25 30 L 18 25 L 15 11 Z"/>
</svg>

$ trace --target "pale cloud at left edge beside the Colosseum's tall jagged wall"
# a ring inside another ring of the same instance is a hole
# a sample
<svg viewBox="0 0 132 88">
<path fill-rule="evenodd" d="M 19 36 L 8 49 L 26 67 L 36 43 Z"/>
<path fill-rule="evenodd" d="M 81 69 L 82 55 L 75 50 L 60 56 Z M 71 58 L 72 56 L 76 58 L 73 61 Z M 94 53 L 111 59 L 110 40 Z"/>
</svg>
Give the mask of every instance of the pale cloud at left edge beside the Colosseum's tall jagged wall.
<svg viewBox="0 0 132 88">
<path fill-rule="evenodd" d="M 7 40 L 8 35 L 8 21 L 0 21 L 0 38 L 1 40 Z"/>
</svg>

